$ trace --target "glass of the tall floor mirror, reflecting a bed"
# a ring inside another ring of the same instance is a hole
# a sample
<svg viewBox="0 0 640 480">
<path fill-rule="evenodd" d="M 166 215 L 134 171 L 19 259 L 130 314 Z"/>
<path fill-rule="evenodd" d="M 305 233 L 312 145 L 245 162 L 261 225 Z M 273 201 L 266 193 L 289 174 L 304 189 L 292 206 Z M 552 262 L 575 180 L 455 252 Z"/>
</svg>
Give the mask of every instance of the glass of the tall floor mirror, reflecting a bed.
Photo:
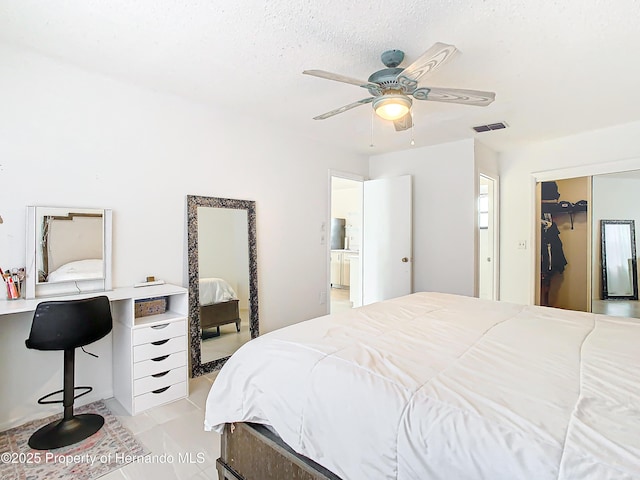
<svg viewBox="0 0 640 480">
<path fill-rule="evenodd" d="M 247 212 L 198 207 L 202 363 L 225 358 L 251 339 Z"/>
</svg>

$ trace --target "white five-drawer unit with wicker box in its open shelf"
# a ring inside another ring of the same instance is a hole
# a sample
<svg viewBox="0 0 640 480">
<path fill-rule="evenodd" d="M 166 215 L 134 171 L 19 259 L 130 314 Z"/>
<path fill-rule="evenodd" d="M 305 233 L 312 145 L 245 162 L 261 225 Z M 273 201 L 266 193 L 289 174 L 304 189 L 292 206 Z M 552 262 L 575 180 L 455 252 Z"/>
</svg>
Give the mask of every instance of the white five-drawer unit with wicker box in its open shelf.
<svg viewBox="0 0 640 480">
<path fill-rule="evenodd" d="M 136 289 L 131 301 L 112 307 L 113 393 L 131 415 L 189 394 L 187 290 L 161 287 Z M 164 312 L 135 317 L 136 300 L 158 297 Z"/>
</svg>

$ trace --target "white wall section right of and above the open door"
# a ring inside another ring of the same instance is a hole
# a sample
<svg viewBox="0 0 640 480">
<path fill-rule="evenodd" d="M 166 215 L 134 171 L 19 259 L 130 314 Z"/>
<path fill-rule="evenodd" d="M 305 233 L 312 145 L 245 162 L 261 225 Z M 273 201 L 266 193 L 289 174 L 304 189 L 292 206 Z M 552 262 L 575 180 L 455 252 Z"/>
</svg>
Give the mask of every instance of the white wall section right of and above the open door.
<svg viewBox="0 0 640 480">
<path fill-rule="evenodd" d="M 376 155 L 371 178 L 413 176 L 413 289 L 474 294 L 474 141 Z"/>
</svg>

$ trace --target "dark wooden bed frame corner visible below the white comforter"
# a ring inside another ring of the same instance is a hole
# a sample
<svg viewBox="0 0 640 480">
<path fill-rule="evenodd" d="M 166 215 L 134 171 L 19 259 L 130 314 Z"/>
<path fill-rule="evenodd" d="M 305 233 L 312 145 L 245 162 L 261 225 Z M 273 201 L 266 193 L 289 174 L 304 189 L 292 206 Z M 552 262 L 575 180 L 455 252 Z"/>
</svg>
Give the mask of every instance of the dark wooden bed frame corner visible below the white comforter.
<svg viewBox="0 0 640 480">
<path fill-rule="evenodd" d="M 219 480 L 341 480 L 255 423 L 225 425 L 216 468 Z"/>
</svg>

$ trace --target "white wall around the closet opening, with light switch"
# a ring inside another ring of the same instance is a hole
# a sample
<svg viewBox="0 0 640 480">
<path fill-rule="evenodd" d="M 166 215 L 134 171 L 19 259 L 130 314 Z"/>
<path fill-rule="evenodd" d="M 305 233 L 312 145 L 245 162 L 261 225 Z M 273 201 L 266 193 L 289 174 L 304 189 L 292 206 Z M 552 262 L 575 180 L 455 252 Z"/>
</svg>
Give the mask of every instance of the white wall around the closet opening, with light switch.
<svg viewBox="0 0 640 480">
<path fill-rule="evenodd" d="M 535 178 L 552 180 L 640 168 L 640 122 L 542 142 L 500 155 L 500 298 L 533 303 Z M 539 222 L 538 222 L 539 223 Z M 517 248 L 526 240 L 527 249 Z"/>
</svg>

